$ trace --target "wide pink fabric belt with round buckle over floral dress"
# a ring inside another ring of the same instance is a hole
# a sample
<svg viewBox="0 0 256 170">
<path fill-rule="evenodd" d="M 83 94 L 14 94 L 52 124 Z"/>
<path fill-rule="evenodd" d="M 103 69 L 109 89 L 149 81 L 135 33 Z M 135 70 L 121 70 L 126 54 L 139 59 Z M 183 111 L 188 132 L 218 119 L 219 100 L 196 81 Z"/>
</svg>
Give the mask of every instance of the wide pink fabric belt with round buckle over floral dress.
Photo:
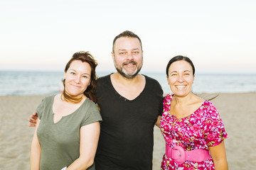
<svg viewBox="0 0 256 170">
<path fill-rule="evenodd" d="M 185 161 L 203 162 L 210 159 L 210 153 L 206 149 L 194 149 L 185 151 L 181 146 L 169 147 L 166 144 L 166 156 L 174 159 L 177 164 L 182 164 Z"/>
</svg>

